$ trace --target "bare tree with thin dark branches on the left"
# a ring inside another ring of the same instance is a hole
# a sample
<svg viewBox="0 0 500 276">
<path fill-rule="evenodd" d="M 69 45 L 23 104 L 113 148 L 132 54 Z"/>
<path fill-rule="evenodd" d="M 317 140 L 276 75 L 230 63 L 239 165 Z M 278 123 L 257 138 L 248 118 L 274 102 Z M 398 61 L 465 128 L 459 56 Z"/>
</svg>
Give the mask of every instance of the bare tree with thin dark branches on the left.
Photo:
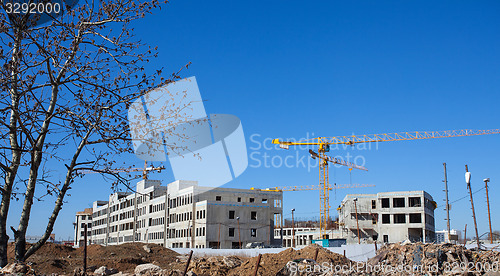
<svg viewBox="0 0 500 276">
<path fill-rule="evenodd" d="M 110 172 L 117 155 L 133 151 L 129 105 L 179 78 L 146 74 L 156 48 L 134 37 L 132 24 L 164 3 L 89 0 L 42 25 L 36 16 L 0 14 L 0 266 L 7 264 L 11 200 L 23 200 L 19 225 L 10 228 L 15 258 L 24 261 L 49 238 L 81 171 Z M 168 112 L 184 121 L 185 105 Z M 26 250 L 31 209 L 46 195 L 55 198 L 54 209 L 42 238 Z"/>
</svg>

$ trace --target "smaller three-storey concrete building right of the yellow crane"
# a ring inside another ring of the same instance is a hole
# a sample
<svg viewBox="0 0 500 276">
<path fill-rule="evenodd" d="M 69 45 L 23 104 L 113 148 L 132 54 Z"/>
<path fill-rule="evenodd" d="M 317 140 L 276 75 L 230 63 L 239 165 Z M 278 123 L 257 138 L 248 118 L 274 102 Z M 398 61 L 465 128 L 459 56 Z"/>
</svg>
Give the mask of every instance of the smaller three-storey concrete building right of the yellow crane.
<svg viewBox="0 0 500 276">
<path fill-rule="evenodd" d="M 424 191 L 350 194 L 339 206 L 339 224 L 347 243 L 435 240 L 436 203 Z"/>
</svg>

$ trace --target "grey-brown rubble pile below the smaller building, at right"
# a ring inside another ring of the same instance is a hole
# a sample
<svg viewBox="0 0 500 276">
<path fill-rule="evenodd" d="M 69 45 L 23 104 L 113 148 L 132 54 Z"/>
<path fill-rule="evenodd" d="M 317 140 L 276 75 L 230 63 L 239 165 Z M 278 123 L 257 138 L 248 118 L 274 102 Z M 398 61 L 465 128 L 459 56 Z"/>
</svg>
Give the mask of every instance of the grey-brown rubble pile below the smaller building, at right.
<svg viewBox="0 0 500 276">
<path fill-rule="evenodd" d="M 379 249 L 364 269 L 373 275 L 483 275 L 498 271 L 499 260 L 498 251 L 468 250 L 452 244 L 397 243 Z"/>
</svg>

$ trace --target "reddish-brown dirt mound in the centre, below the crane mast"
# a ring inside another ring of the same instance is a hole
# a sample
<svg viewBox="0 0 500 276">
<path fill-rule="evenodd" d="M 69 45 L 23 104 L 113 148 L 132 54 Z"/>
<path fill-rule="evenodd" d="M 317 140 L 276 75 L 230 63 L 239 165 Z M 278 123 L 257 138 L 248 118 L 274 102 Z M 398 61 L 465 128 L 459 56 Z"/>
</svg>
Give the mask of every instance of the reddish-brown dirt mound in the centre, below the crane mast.
<svg viewBox="0 0 500 276">
<path fill-rule="evenodd" d="M 328 263 L 329 265 L 345 265 L 352 263 L 343 255 L 333 253 L 319 245 L 309 245 L 301 250 L 294 250 L 292 248 L 281 251 L 277 254 L 264 254 L 260 259 L 260 266 L 258 275 L 276 275 L 279 271 L 286 266 L 286 264 L 293 260 L 298 259 L 313 259 L 318 250 L 317 263 Z M 257 257 L 248 259 L 242 263 L 238 268 L 231 270 L 228 275 L 253 275 Z"/>
</svg>

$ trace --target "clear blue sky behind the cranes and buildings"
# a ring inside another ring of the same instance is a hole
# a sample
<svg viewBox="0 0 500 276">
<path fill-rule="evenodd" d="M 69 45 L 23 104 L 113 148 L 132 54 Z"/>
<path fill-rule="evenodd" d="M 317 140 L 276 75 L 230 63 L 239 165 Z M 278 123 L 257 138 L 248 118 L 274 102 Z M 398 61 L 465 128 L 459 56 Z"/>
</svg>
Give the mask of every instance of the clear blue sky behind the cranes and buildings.
<svg viewBox="0 0 500 276">
<path fill-rule="evenodd" d="M 317 167 L 258 166 L 264 154 L 276 160 L 296 160 L 298 154 L 308 161 L 306 150 L 257 149 L 262 143 L 271 147 L 269 138 L 499 128 L 498 14 L 497 1 L 174 0 L 135 27 L 140 39 L 159 47 L 160 57 L 148 70 L 177 71 L 192 62 L 183 76 L 196 76 L 207 113 L 241 119 L 249 168 L 226 186 L 265 188 L 318 184 Z M 423 189 L 442 204 L 443 162 L 451 200 L 467 195 L 465 164 L 473 190 L 491 178 L 494 213 L 500 203 L 499 139 L 387 142 L 331 152 L 364 160 L 369 171 L 353 171 L 352 182 L 376 185 L 332 192 L 332 213 L 346 193 Z M 141 166 L 133 158 L 130 163 Z M 152 175 L 165 182 L 171 177 L 169 170 Z M 349 183 L 348 170 L 331 171 L 331 182 Z M 109 193 L 98 176 L 77 181 L 56 235 L 72 236 L 74 213 Z M 291 208 L 297 217 L 318 216 L 318 191 L 284 197 L 285 217 Z M 484 190 L 474 200 L 481 234 L 488 229 Z M 52 202 L 39 206 L 31 235 L 42 233 Z M 435 211 L 437 229 L 446 227 L 442 209 Z M 472 233 L 468 200 L 454 203 L 451 216 L 452 228 L 468 224 Z M 497 218 L 493 228 L 500 230 Z"/>
</svg>

